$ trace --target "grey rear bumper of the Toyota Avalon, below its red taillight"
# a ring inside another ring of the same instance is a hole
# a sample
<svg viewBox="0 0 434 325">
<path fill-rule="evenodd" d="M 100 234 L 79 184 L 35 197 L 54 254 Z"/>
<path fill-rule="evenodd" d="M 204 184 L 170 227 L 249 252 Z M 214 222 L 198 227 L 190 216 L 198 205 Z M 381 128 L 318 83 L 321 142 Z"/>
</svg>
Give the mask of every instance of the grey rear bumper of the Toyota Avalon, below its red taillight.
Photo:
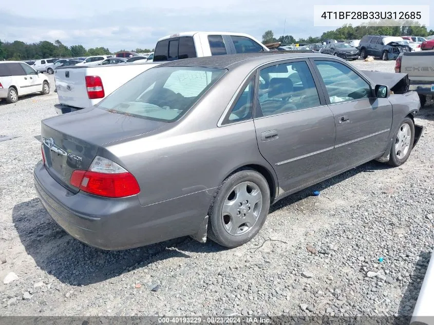
<svg viewBox="0 0 434 325">
<path fill-rule="evenodd" d="M 137 196 L 110 199 L 81 191 L 74 194 L 56 182 L 42 162 L 33 176 L 37 195 L 54 221 L 72 237 L 103 250 L 194 235 L 212 198 L 212 193 L 203 191 L 142 206 Z"/>
</svg>

